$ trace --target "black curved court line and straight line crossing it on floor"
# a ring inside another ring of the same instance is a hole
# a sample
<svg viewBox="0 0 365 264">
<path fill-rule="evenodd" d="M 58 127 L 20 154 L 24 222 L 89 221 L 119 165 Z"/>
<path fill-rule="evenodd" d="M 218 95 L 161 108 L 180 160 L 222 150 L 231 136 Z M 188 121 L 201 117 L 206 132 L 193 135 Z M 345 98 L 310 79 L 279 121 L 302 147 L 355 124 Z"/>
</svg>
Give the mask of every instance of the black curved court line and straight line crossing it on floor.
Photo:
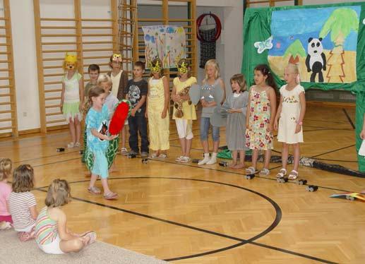
<svg viewBox="0 0 365 264">
<path fill-rule="evenodd" d="M 275 250 L 275 251 L 280 251 L 282 253 L 288 253 L 288 254 L 291 254 L 291 255 L 294 255 L 294 256 L 299 256 L 299 257 L 302 257 L 302 258 L 308 258 L 308 259 L 311 259 L 311 260 L 316 260 L 316 261 L 321 262 L 321 263 L 335 263 L 335 262 L 332 262 L 330 260 L 325 260 L 325 259 L 322 259 L 322 258 L 316 258 L 316 257 L 309 256 L 309 255 L 306 255 L 306 254 L 303 254 L 303 253 L 298 253 L 298 252 L 295 252 L 295 251 L 289 251 L 289 250 L 287 250 L 285 248 L 277 248 L 275 246 L 270 246 L 270 245 L 266 245 L 266 244 L 254 242 L 256 239 L 259 239 L 262 236 L 265 236 L 265 234 L 268 234 L 275 227 L 277 227 L 277 225 L 280 223 L 280 220 L 281 220 L 281 217 L 282 217 L 282 211 L 280 209 L 280 206 L 277 205 L 277 203 L 275 203 L 271 198 L 269 198 L 268 196 L 263 195 L 262 193 L 258 193 L 256 191 L 253 191 L 253 190 L 251 190 L 249 188 L 244 188 L 244 187 L 237 186 L 237 185 L 233 185 L 233 184 L 226 184 L 226 183 L 222 183 L 222 182 L 219 182 L 219 181 L 208 181 L 208 180 L 202 180 L 202 179 L 186 179 L 186 178 L 177 178 L 177 177 L 153 177 L 153 176 L 152 177 L 149 177 L 149 176 L 138 176 L 138 177 L 110 178 L 109 180 L 113 180 L 113 179 L 174 179 L 174 180 L 176 179 L 176 180 L 188 180 L 188 181 L 203 181 L 203 182 L 209 182 L 209 183 L 213 183 L 213 184 L 220 184 L 220 185 L 225 185 L 225 186 L 231 186 L 231 187 L 234 187 L 234 188 L 240 188 L 240 189 L 243 189 L 245 191 L 249 191 L 249 192 L 254 193 L 254 194 L 258 195 L 258 196 L 261 196 L 265 200 L 268 200 L 268 202 L 271 205 L 273 205 L 273 207 L 275 208 L 275 212 L 276 212 L 275 220 L 273 221 L 272 224 L 270 224 L 270 226 L 267 229 L 265 229 L 260 234 L 258 234 L 256 236 L 253 236 L 251 239 L 241 239 L 241 238 L 238 238 L 238 237 L 235 237 L 235 236 L 229 236 L 229 235 L 226 235 L 226 234 L 221 234 L 221 233 L 218 233 L 218 232 L 213 232 L 213 231 L 210 231 L 210 230 L 207 230 L 207 229 L 201 229 L 199 227 L 193 227 L 193 226 L 190 226 L 188 224 L 181 224 L 179 222 L 174 222 L 174 221 L 170 221 L 170 220 L 164 220 L 164 219 L 162 219 L 160 217 L 153 217 L 153 216 L 150 216 L 150 215 L 142 214 L 140 212 L 134 212 L 134 211 L 126 210 L 126 209 L 123 209 L 123 208 L 117 208 L 117 207 L 112 206 L 112 205 L 104 205 L 103 203 L 97 203 L 97 202 L 93 202 L 91 200 L 85 200 L 83 198 L 73 197 L 74 200 L 79 200 L 79 201 L 82 201 L 84 203 L 90 203 L 92 205 L 99 205 L 99 206 L 102 206 L 104 208 L 110 208 L 112 210 L 118 210 L 118 211 L 121 211 L 121 212 L 126 212 L 126 213 L 129 213 L 129 214 L 132 214 L 132 215 L 138 215 L 140 217 L 146 217 L 146 218 L 149 218 L 149 219 L 152 219 L 152 220 L 157 220 L 157 221 L 165 222 L 165 223 L 168 223 L 168 224 L 174 224 L 174 225 L 179 226 L 179 227 L 185 227 L 185 228 L 188 228 L 188 229 L 193 229 L 193 230 L 198 231 L 198 232 L 204 232 L 204 233 L 207 233 L 207 234 L 213 234 L 215 236 L 224 237 L 226 239 L 232 239 L 232 240 L 235 240 L 235 241 L 240 241 L 240 243 L 238 243 L 238 244 L 234 244 L 232 246 L 227 246 L 225 248 L 219 248 L 219 249 L 216 249 L 216 250 L 213 250 L 213 251 L 208 251 L 208 252 L 204 252 L 204 253 L 193 254 L 193 255 L 189 255 L 189 256 L 181 256 L 181 257 L 177 257 L 177 258 L 164 259 L 166 261 L 183 260 L 183 259 L 186 259 L 186 258 L 196 258 L 198 256 L 206 256 L 206 255 L 210 255 L 212 253 L 226 251 L 228 249 L 235 248 L 237 246 L 242 246 L 244 244 L 252 244 L 254 246 L 261 246 L 263 248 L 268 248 L 268 249 L 272 249 L 272 250 Z M 87 181 L 88 180 L 73 181 L 73 182 L 70 182 L 69 184 L 75 184 L 75 183 L 87 182 Z M 44 187 L 36 188 L 35 190 L 42 191 L 42 192 L 47 192 L 45 190 L 42 190 L 42 188 L 44 188 Z"/>
</svg>

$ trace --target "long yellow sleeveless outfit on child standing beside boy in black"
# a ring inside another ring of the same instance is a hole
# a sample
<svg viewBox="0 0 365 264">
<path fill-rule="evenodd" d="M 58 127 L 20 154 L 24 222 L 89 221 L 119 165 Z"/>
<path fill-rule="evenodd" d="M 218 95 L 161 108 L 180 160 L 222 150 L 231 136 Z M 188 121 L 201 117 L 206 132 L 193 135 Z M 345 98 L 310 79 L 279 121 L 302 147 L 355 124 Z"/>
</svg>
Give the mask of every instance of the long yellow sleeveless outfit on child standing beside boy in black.
<svg viewBox="0 0 365 264">
<path fill-rule="evenodd" d="M 165 77 L 162 77 L 165 78 Z M 164 83 L 162 78 L 148 80 L 148 131 L 151 150 L 168 150 L 169 145 L 169 111 L 161 118 L 164 109 Z"/>
</svg>

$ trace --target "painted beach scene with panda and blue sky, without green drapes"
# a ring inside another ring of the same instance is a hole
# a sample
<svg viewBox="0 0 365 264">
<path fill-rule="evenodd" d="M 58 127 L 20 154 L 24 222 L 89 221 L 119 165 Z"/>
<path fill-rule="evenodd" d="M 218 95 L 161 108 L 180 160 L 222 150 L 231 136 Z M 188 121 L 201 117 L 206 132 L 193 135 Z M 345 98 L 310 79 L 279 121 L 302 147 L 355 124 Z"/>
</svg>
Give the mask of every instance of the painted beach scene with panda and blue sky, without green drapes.
<svg viewBox="0 0 365 264">
<path fill-rule="evenodd" d="M 301 81 L 352 83 L 357 80 L 357 36 L 361 6 L 273 11 L 270 68 L 283 79 L 288 63 L 298 64 Z M 262 49 L 263 49 L 262 48 Z"/>
</svg>

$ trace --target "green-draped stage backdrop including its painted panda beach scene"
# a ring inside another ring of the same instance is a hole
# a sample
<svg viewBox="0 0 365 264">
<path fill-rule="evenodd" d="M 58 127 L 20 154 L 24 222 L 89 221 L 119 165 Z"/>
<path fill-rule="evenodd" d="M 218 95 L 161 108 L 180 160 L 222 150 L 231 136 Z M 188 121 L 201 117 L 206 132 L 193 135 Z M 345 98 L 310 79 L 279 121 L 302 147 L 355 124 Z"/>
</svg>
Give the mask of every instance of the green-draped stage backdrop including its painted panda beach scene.
<svg viewBox="0 0 365 264">
<path fill-rule="evenodd" d="M 270 65 L 279 85 L 285 66 L 298 64 L 305 89 L 356 93 L 356 145 L 365 112 L 365 2 L 247 8 L 241 72 L 253 84 L 253 69 Z M 358 156 L 365 172 L 365 158 Z"/>
</svg>

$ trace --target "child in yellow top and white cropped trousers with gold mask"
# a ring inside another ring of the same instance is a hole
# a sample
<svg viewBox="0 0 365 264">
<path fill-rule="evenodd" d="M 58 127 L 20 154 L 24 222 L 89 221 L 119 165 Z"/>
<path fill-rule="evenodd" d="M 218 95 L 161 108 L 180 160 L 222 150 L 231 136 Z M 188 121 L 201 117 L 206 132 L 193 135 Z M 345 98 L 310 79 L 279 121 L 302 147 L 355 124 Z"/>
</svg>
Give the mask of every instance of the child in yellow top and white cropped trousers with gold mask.
<svg viewBox="0 0 365 264">
<path fill-rule="evenodd" d="M 181 145 L 181 156 L 176 162 L 190 162 L 191 143 L 193 141 L 193 120 L 196 120 L 196 110 L 191 103 L 189 90 L 191 85 L 196 84 L 196 78 L 191 76 L 191 67 L 187 59 L 180 59 L 177 63 L 179 76 L 174 78 L 171 98 L 174 101 L 174 112 L 172 119 L 175 119 L 177 133 Z"/>
</svg>

